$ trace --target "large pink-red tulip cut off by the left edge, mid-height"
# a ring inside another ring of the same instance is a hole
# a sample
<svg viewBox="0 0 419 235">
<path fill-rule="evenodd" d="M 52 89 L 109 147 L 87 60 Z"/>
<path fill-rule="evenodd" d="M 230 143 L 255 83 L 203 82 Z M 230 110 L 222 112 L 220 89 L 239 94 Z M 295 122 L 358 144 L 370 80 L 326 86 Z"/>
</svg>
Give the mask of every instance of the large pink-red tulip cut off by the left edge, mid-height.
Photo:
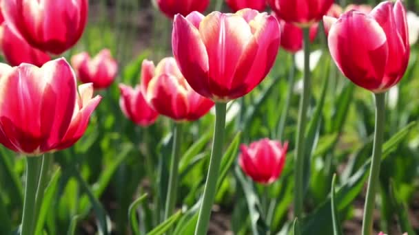
<svg viewBox="0 0 419 235">
<path fill-rule="evenodd" d="M 91 84 L 79 86 L 64 58 L 10 67 L 0 63 L 0 143 L 26 155 L 72 146 L 101 100 Z"/>
</svg>

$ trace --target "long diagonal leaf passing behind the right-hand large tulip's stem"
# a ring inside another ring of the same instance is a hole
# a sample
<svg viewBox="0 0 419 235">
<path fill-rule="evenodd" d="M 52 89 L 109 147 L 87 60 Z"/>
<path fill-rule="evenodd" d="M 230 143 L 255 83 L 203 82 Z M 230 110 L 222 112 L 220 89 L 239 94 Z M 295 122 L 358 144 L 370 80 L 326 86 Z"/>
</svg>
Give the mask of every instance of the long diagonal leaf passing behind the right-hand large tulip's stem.
<svg viewBox="0 0 419 235">
<path fill-rule="evenodd" d="M 409 134 L 416 122 L 411 122 L 398 131 L 382 146 L 382 160 L 396 150 L 396 146 Z M 367 181 L 371 158 L 349 177 L 336 192 L 336 209 L 344 210 L 358 196 Z M 333 234 L 331 213 L 331 198 L 328 197 L 316 210 L 303 219 L 303 234 Z"/>
</svg>

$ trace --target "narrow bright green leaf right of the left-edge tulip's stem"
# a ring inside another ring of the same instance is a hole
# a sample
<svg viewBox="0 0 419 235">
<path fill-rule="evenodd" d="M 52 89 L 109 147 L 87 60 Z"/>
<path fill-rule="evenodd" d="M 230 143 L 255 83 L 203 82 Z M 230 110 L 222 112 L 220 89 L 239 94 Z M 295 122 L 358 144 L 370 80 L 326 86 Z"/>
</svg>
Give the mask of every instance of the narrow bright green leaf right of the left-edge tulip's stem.
<svg viewBox="0 0 419 235">
<path fill-rule="evenodd" d="M 48 157 L 52 157 L 52 156 L 48 156 Z M 46 216 L 48 215 L 48 211 L 50 210 L 50 207 L 52 203 L 54 202 L 54 196 L 58 190 L 57 185 L 58 185 L 60 177 L 61 177 L 61 170 L 59 169 L 54 173 L 50 183 L 45 188 L 45 193 L 43 194 L 41 208 L 39 209 L 38 222 L 35 228 L 35 234 L 37 235 L 43 234 L 43 225 L 45 223 Z"/>
</svg>

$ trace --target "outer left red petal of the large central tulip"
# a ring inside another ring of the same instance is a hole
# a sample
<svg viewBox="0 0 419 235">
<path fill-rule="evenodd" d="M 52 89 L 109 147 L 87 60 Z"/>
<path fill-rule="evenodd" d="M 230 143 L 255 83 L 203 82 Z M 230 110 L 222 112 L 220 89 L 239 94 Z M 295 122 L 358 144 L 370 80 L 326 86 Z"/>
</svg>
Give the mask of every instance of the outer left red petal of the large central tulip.
<svg viewBox="0 0 419 235">
<path fill-rule="evenodd" d="M 196 27 L 181 15 L 174 17 L 172 48 L 179 69 L 201 96 L 212 98 L 208 89 L 208 55 Z"/>
</svg>

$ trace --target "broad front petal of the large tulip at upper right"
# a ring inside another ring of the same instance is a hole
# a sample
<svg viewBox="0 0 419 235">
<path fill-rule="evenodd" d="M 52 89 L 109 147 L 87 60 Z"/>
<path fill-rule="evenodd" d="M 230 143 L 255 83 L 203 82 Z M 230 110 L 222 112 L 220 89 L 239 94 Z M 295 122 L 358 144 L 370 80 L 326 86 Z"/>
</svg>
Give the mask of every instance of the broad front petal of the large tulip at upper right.
<svg viewBox="0 0 419 235">
<path fill-rule="evenodd" d="M 380 87 L 389 52 L 385 32 L 372 17 L 355 11 L 343 14 L 331 26 L 328 43 L 347 78 L 365 89 Z"/>
</svg>

